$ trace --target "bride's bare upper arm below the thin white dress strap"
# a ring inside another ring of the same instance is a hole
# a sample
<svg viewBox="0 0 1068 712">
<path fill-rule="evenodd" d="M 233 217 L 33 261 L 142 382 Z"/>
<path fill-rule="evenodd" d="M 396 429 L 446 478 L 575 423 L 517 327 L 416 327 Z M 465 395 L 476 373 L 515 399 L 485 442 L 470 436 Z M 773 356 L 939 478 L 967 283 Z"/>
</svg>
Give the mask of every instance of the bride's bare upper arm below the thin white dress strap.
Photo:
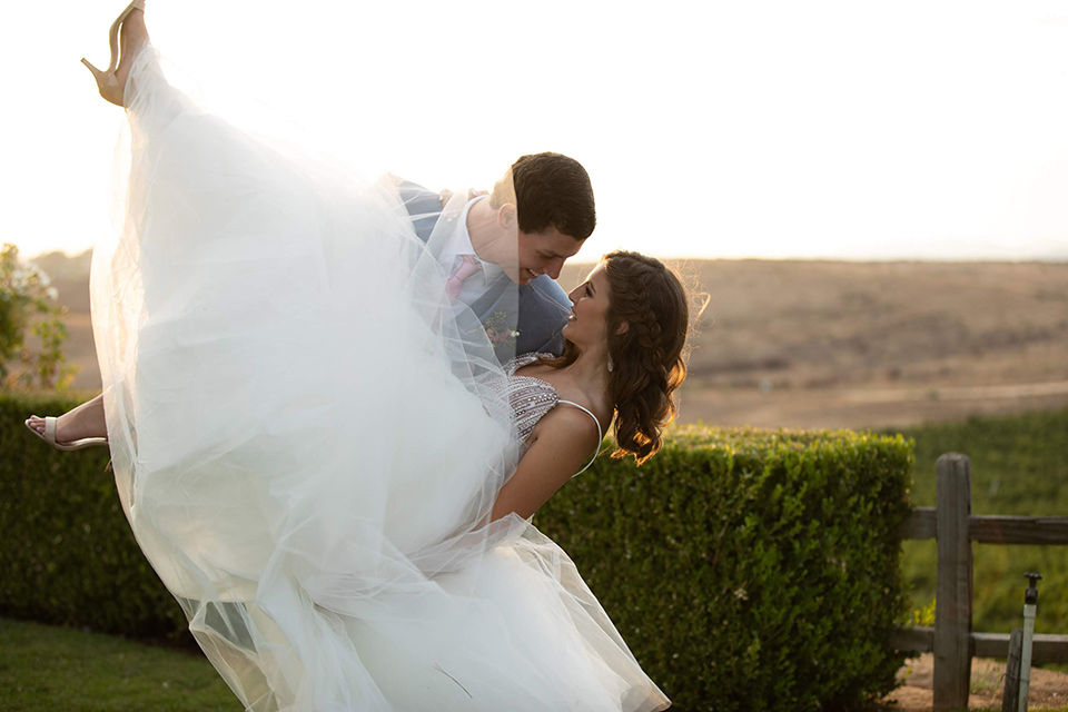
<svg viewBox="0 0 1068 712">
<path fill-rule="evenodd" d="M 582 469 L 595 447 L 597 426 L 577 408 L 555 407 L 538 421 L 515 474 L 501 488 L 493 518 L 515 512 L 526 518 Z"/>
</svg>

